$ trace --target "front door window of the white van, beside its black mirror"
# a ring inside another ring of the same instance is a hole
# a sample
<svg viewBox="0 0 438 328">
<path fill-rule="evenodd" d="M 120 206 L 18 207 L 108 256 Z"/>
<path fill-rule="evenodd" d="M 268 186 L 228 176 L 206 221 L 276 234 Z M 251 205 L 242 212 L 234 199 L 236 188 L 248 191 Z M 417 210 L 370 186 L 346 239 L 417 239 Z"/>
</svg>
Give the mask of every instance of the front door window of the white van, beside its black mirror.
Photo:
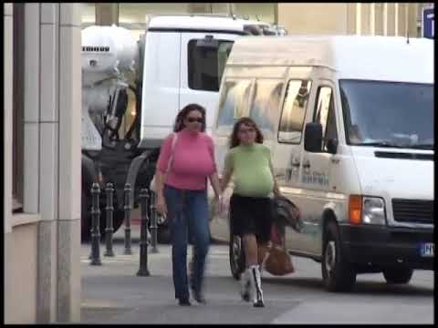
<svg viewBox="0 0 438 328">
<path fill-rule="evenodd" d="M 316 110 L 313 121 L 322 125 L 323 150 L 327 151 L 326 143 L 328 139 L 338 138 L 336 130 L 335 107 L 333 101 L 333 91 L 331 87 L 319 87 Z"/>
</svg>

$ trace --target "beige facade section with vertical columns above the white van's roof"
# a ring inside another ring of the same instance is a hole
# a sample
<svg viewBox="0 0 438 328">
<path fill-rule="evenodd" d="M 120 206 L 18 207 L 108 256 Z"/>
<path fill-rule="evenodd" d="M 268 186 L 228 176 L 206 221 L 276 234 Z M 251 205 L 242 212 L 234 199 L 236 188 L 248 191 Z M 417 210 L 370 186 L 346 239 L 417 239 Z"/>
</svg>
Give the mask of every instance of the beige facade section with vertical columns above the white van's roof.
<svg viewBox="0 0 438 328">
<path fill-rule="evenodd" d="M 422 36 L 424 3 L 282 3 L 278 24 L 289 34 Z"/>
</svg>

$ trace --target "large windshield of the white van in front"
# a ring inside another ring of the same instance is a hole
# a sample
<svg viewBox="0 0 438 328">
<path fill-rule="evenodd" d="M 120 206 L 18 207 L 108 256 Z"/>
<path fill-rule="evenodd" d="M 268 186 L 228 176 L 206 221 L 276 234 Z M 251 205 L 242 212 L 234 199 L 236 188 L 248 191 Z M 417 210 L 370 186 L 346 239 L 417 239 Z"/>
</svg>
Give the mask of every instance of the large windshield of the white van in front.
<svg viewBox="0 0 438 328">
<path fill-rule="evenodd" d="M 433 149 L 433 85 L 339 80 L 349 145 Z"/>
</svg>

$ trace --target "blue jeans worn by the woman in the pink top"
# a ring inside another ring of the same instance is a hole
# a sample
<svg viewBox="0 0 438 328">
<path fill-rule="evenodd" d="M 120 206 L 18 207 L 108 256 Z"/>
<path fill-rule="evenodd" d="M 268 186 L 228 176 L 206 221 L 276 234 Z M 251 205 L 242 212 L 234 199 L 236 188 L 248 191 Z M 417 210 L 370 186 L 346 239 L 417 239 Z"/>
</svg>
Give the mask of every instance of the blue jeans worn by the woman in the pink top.
<svg viewBox="0 0 438 328">
<path fill-rule="evenodd" d="M 172 271 L 175 298 L 188 298 L 187 242 L 193 237 L 194 261 L 192 284 L 195 292 L 201 292 L 205 257 L 210 244 L 208 203 L 206 190 L 178 190 L 164 187 L 167 216 L 172 234 Z"/>
</svg>

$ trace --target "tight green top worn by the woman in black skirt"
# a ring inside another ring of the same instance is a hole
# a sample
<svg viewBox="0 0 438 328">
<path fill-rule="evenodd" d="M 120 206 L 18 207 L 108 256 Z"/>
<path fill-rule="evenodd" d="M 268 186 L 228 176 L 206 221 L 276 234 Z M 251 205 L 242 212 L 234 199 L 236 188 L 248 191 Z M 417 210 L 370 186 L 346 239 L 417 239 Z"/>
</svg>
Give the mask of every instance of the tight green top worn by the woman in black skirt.
<svg viewBox="0 0 438 328">
<path fill-rule="evenodd" d="M 233 170 L 234 192 L 240 196 L 268 197 L 274 188 L 270 159 L 271 151 L 259 143 L 228 150 L 224 173 Z"/>
</svg>

